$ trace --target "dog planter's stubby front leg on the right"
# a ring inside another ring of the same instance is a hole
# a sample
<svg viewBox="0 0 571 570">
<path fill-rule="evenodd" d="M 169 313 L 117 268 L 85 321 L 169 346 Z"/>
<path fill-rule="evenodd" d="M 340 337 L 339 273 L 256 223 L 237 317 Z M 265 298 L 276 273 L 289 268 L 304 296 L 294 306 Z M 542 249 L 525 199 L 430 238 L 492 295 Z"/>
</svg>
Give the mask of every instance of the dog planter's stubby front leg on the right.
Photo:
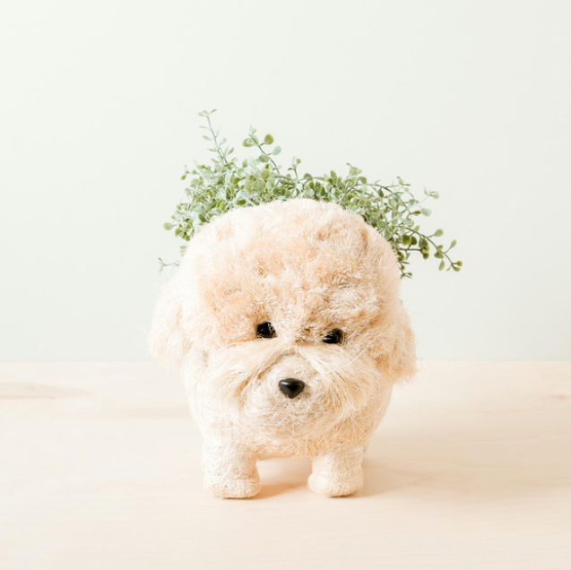
<svg viewBox="0 0 571 570">
<path fill-rule="evenodd" d="M 362 463 L 362 447 L 314 457 L 307 485 L 325 497 L 350 495 L 363 484 Z"/>
</svg>

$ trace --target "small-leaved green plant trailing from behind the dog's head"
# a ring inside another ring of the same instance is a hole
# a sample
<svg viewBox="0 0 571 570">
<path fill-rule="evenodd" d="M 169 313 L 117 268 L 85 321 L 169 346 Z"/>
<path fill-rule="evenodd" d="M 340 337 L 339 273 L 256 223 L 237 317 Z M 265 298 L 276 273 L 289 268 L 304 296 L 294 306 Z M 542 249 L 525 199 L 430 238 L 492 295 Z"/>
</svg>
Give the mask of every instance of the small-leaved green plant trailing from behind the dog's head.
<svg viewBox="0 0 571 570">
<path fill-rule="evenodd" d="M 240 163 L 236 157 L 231 158 L 234 149 L 228 146 L 226 139 L 220 139 L 220 129 L 212 126 L 214 110 L 199 113 L 206 121 L 201 128 L 208 132 L 203 138 L 212 143 L 208 149 L 214 155 L 212 164 L 195 162 L 192 170 L 186 167 L 182 179 L 193 175 L 185 189 L 186 201 L 177 205 L 172 221 L 164 224 L 165 229 L 175 230 L 175 236 L 188 241 L 203 224 L 235 208 L 272 200 L 313 198 L 339 203 L 346 210 L 360 214 L 376 228 L 393 246 L 402 277 L 412 275 L 407 272 L 407 265 L 413 252 L 418 252 L 424 259 L 432 254 L 440 260 L 439 270 L 447 265 L 447 271 L 460 271 L 462 262 L 454 262 L 448 255 L 456 241 L 453 240 L 445 249 L 434 240 L 442 236 L 442 229 L 424 234 L 415 222 L 419 216 L 430 215 L 423 203 L 428 198 L 437 199 L 437 192 L 429 192 L 425 188 L 424 198 L 419 201 L 411 194 L 410 185 L 402 182 L 400 177 L 397 177 L 396 184 L 388 186 L 378 181 L 369 182 L 361 176 L 359 168 L 349 163 L 349 174 L 345 177 L 340 177 L 333 170 L 323 177 L 307 173 L 299 176 L 300 160 L 294 157 L 286 174 L 282 174 L 275 161 L 281 148 L 273 146 L 271 134 L 260 140 L 255 128 L 250 128 L 243 145 L 255 149 L 257 156 L 250 156 Z M 177 264 L 159 261 L 161 268 Z"/>
</svg>

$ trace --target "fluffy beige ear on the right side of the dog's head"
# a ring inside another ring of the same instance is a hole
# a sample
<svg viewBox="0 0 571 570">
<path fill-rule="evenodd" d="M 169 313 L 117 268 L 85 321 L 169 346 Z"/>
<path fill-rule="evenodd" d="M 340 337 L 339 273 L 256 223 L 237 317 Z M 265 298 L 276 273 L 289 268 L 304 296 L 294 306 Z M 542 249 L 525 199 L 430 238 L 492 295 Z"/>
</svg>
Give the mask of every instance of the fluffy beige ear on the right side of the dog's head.
<svg viewBox="0 0 571 570">
<path fill-rule="evenodd" d="M 400 308 L 392 337 L 392 346 L 384 360 L 384 372 L 387 379 L 394 383 L 411 378 L 417 371 L 414 332 L 404 307 Z"/>
</svg>

